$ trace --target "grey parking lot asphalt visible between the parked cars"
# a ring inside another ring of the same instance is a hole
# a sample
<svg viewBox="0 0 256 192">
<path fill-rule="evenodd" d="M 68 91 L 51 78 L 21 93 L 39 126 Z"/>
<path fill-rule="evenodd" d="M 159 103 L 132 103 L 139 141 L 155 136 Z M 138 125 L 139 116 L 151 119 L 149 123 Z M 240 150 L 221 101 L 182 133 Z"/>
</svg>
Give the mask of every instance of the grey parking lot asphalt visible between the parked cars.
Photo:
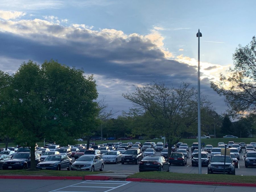
<svg viewBox="0 0 256 192">
<path fill-rule="evenodd" d="M 172 164 L 171 172 L 175 173 L 191 173 L 197 174 L 198 167 L 192 167 L 191 164 L 191 149 L 189 149 L 189 158 L 187 159 L 187 165 L 181 166 Z M 144 153 L 144 152 L 143 152 Z M 236 175 L 242 176 L 256 176 L 256 167 L 245 168 L 244 158 L 243 158 L 244 149 L 240 153 L 240 160 L 238 161 L 238 168 L 236 168 Z M 156 152 L 156 155 L 160 156 L 161 152 Z M 122 165 L 121 163 L 117 164 L 106 164 L 104 166 L 104 172 L 116 172 L 116 173 L 137 173 L 139 172 L 139 165 L 133 163 Z M 202 167 L 202 174 L 207 174 L 207 167 Z"/>
</svg>

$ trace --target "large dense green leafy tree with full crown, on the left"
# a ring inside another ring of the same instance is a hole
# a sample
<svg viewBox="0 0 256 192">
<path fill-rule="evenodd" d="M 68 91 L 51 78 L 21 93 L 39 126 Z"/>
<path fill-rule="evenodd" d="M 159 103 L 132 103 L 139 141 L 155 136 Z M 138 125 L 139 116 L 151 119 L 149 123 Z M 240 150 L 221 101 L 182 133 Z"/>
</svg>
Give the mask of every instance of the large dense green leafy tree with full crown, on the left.
<svg viewBox="0 0 256 192">
<path fill-rule="evenodd" d="M 13 127 L 15 141 L 30 147 L 31 168 L 35 169 L 35 144 L 55 141 L 73 144 L 95 126 L 98 115 L 96 82 L 83 70 L 45 61 L 23 63 L 9 83 L 9 98 L 15 107 L 9 114 L 18 120 Z"/>
</svg>

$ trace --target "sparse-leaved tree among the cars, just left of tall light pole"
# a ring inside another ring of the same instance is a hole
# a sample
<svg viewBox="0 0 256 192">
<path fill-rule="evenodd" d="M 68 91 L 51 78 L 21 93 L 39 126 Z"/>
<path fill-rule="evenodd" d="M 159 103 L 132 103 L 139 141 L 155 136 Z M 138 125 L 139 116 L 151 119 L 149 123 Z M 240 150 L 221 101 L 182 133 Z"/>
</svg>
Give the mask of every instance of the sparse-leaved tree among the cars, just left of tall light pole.
<svg viewBox="0 0 256 192">
<path fill-rule="evenodd" d="M 135 108 L 143 109 L 154 117 L 168 145 L 172 146 L 179 141 L 180 133 L 185 129 L 183 121 L 188 117 L 195 99 L 196 91 L 189 86 L 187 82 L 182 82 L 178 88 L 154 82 L 152 85 L 135 87 L 134 93 L 128 92 L 123 97 L 133 102 Z M 170 154 L 171 147 L 168 148 Z"/>
</svg>

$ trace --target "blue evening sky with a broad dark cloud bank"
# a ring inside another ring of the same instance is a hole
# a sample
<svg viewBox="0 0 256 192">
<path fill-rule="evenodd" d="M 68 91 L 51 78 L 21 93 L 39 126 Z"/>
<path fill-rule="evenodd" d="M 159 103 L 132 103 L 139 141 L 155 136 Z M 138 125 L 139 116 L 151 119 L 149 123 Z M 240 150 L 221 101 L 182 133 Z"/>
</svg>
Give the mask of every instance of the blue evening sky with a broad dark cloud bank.
<svg viewBox="0 0 256 192">
<path fill-rule="evenodd" d="M 198 29 L 201 93 L 219 114 L 224 98 L 211 88 L 232 67 L 238 44 L 255 36 L 256 1 L 1 0 L 0 70 L 45 60 L 93 74 L 99 99 L 120 115 L 134 86 L 190 82 L 197 89 Z"/>
</svg>

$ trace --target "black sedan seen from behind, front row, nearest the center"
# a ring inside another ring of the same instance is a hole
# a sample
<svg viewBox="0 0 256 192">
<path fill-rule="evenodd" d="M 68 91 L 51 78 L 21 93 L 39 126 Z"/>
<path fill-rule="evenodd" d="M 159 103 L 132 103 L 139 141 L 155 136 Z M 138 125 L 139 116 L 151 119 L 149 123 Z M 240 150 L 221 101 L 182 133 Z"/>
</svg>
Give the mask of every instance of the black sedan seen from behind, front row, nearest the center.
<svg viewBox="0 0 256 192">
<path fill-rule="evenodd" d="M 143 171 L 168 171 L 170 164 L 163 156 L 146 156 L 139 164 L 139 172 Z"/>
</svg>

